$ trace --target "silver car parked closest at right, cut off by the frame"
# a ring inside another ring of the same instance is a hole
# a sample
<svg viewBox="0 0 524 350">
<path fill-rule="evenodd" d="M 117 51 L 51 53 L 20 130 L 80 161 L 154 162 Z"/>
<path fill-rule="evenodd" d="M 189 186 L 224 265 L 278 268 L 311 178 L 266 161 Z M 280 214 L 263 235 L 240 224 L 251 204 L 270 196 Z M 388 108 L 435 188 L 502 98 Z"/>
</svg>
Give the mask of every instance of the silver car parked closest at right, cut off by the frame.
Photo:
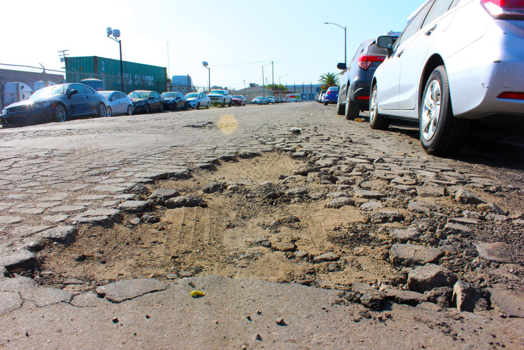
<svg viewBox="0 0 524 350">
<path fill-rule="evenodd" d="M 418 120 L 429 154 L 460 151 L 471 121 L 524 116 L 524 3 L 428 0 L 409 17 L 377 68 L 369 124 L 387 129 L 391 118 Z"/>
</svg>

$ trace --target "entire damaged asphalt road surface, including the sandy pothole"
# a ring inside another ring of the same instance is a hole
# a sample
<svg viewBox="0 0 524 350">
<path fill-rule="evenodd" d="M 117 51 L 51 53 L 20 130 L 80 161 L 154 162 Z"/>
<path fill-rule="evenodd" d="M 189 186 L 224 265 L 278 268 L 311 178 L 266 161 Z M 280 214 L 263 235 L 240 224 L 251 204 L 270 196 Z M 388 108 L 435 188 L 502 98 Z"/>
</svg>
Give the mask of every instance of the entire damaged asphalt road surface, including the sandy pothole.
<svg viewBox="0 0 524 350">
<path fill-rule="evenodd" d="M 169 307 L 202 315 L 191 334 L 208 347 L 271 340 L 265 347 L 301 348 L 313 338 L 315 347 L 337 348 L 379 347 L 381 338 L 392 347 L 524 346 L 521 160 L 479 164 L 475 157 L 496 152 L 475 146 L 456 160 L 435 158 L 409 127 L 376 132 L 331 112 L 302 103 L 198 111 L 198 124 L 167 113 L 72 122 L 74 134 L 60 124 L 2 131 L 0 312 L 18 320 L 2 326 L 2 344 L 52 344 L 50 328 L 30 320 L 92 306 L 88 324 L 102 322 L 112 345 L 123 317 Z M 117 134 L 127 146 L 97 140 Z M 79 143 L 65 143 L 71 138 Z M 212 291 L 193 300 L 186 289 L 199 283 Z M 252 286 L 247 299 L 237 300 L 238 285 Z M 166 293 L 177 296 L 168 302 Z M 277 317 L 287 326 L 264 333 L 244 324 L 256 315 L 252 299 L 267 326 Z M 206 300 L 221 306 L 195 304 Z M 318 310 L 305 312 L 308 303 Z M 162 322 L 159 330 L 182 332 Z M 89 327 L 69 341 L 87 341 Z M 140 341 L 161 346 L 180 332 Z"/>
</svg>

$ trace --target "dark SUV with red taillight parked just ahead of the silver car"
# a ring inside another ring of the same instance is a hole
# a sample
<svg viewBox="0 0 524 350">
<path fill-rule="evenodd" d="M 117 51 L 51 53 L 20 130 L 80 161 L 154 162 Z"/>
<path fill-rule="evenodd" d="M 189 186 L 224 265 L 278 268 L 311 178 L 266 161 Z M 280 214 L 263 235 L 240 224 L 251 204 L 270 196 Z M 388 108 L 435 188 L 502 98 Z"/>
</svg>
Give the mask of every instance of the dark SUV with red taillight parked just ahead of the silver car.
<svg viewBox="0 0 524 350">
<path fill-rule="evenodd" d="M 395 41 L 398 35 L 392 37 Z M 345 115 L 347 120 L 354 120 L 361 111 L 369 110 L 371 81 L 386 55 L 386 50 L 377 46 L 376 39 L 370 39 L 358 47 L 347 67 L 345 63 L 337 65 L 339 69 L 344 69 L 340 79 L 337 114 Z"/>
</svg>

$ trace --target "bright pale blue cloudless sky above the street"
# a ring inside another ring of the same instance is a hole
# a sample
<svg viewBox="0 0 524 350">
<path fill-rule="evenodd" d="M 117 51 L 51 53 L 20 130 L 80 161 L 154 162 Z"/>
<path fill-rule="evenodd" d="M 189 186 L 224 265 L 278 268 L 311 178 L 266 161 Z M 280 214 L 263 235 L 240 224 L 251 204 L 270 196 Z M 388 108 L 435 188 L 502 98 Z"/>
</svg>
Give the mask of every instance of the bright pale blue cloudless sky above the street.
<svg viewBox="0 0 524 350">
<path fill-rule="evenodd" d="M 358 45 L 388 30 L 401 31 L 422 0 L 237 1 L 115 0 L 19 1 L 2 3 L 0 63 L 63 67 L 58 50 L 70 56 L 118 59 L 118 45 L 105 28 L 122 32 L 123 58 L 169 67 L 170 76 L 189 74 L 196 85 L 243 88 L 262 82 L 262 66 L 275 62 L 275 83 L 316 83 L 338 72 Z M 7 29 L 6 29 L 7 30 Z M 169 65 L 167 43 L 169 38 Z M 264 62 L 264 63 L 263 63 Z M 8 68 L 0 66 L 1 68 Z M 264 68 L 271 83 L 271 65 Z"/>
</svg>

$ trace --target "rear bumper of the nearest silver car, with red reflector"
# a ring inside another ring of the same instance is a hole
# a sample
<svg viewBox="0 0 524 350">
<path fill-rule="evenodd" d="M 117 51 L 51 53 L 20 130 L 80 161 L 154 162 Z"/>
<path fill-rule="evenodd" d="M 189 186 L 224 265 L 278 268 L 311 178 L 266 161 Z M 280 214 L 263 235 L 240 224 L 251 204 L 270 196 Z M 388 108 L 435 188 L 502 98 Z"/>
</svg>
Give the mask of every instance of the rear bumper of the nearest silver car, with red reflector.
<svg viewBox="0 0 524 350">
<path fill-rule="evenodd" d="M 499 98 L 503 92 L 524 92 L 522 33 L 511 21 L 492 20 L 481 39 L 445 59 L 457 118 L 524 116 L 524 100 Z"/>
</svg>

